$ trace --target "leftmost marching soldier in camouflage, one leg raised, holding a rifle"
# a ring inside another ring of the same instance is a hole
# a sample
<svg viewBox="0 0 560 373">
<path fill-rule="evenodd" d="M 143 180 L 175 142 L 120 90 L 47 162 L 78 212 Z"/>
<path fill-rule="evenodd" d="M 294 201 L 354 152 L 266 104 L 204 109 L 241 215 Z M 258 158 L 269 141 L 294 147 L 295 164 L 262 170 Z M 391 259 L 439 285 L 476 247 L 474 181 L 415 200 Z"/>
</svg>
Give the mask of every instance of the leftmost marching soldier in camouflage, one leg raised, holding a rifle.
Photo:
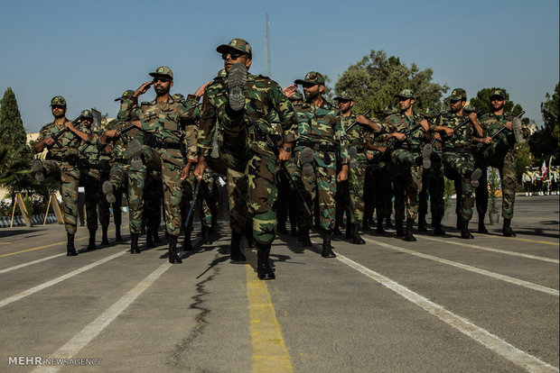
<svg viewBox="0 0 560 373">
<path fill-rule="evenodd" d="M 51 100 L 51 113 L 54 121 L 45 124 L 39 132 L 39 138 L 33 145 L 35 153 L 46 147 L 49 152 L 44 164 L 35 159 L 32 165 L 33 176 L 39 182 L 45 177 L 61 181 L 62 209 L 64 211 L 64 227 L 67 232 L 68 256 L 76 256 L 74 236 L 78 222 L 78 185 L 79 185 L 79 146 L 83 142 L 95 143 L 93 134 L 87 134 L 66 118 L 66 100 L 55 96 Z M 58 136 L 58 139 L 55 137 Z"/>
</svg>

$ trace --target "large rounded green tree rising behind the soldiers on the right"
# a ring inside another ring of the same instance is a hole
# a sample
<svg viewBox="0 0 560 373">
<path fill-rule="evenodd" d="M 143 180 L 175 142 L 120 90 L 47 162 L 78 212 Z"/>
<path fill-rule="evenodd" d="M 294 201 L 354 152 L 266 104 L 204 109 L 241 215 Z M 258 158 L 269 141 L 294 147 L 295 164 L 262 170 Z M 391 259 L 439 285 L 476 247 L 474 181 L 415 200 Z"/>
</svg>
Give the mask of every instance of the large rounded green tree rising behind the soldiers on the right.
<svg viewBox="0 0 560 373">
<path fill-rule="evenodd" d="M 415 91 L 415 111 L 422 113 L 433 106 L 441 109 L 443 94 L 449 86 L 432 82 L 431 68 L 420 70 L 415 63 L 410 67 L 398 57 L 388 57 L 383 50 L 371 50 L 355 65 L 342 73 L 334 86 L 337 94 L 346 92 L 354 98 L 357 112 L 370 109 L 374 113 L 387 105 L 397 105 L 395 95 L 402 89 Z"/>
</svg>

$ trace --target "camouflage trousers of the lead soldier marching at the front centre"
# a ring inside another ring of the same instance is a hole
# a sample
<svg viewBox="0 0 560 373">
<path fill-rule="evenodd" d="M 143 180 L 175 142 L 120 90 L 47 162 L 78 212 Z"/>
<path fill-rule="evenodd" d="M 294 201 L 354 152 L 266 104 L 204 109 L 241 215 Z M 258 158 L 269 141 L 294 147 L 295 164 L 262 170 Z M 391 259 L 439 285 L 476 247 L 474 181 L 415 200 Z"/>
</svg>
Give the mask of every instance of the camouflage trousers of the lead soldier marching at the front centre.
<svg viewBox="0 0 560 373">
<path fill-rule="evenodd" d="M 261 244 L 275 239 L 278 196 L 275 184 L 277 164 L 272 153 L 252 152 L 245 172 L 228 169 L 229 222 L 231 230 L 243 232 L 247 218 L 253 221 L 253 238 Z"/>
</svg>

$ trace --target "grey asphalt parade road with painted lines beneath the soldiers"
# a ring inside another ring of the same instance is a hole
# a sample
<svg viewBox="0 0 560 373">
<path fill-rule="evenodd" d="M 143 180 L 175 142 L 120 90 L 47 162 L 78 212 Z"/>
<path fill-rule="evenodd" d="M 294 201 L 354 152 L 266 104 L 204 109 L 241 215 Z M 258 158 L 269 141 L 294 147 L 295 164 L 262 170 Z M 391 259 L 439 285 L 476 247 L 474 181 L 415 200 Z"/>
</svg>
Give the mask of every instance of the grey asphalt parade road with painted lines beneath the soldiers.
<svg viewBox="0 0 560 373">
<path fill-rule="evenodd" d="M 0 371 L 557 372 L 558 204 L 518 196 L 515 238 L 461 240 L 453 217 L 446 237 L 333 241 L 336 259 L 282 236 L 266 282 L 224 222 L 181 265 L 164 243 L 86 251 L 85 227 L 77 257 L 62 225 L 0 229 Z"/>
</svg>

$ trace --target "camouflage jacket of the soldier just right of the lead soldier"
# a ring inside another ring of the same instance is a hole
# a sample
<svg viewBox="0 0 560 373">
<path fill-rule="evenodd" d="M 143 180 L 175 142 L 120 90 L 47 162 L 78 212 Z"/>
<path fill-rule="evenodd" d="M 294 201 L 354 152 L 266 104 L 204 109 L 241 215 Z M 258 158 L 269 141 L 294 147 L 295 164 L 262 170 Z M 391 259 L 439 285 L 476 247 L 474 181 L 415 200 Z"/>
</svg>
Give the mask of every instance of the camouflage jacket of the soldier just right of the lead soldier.
<svg viewBox="0 0 560 373">
<path fill-rule="evenodd" d="M 336 166 L 331 155 L 336 157 L 339 165 L 350 163 L 348 140 L 342 128 L 341 116 L 338 109 L 329 107 L 333 106 L 320 107 L 303 103 L 294 107 L 300 133 L 298 150 L 303 147 L 313 148 L 315 160 L 322 167 Z"/>
</svg>

